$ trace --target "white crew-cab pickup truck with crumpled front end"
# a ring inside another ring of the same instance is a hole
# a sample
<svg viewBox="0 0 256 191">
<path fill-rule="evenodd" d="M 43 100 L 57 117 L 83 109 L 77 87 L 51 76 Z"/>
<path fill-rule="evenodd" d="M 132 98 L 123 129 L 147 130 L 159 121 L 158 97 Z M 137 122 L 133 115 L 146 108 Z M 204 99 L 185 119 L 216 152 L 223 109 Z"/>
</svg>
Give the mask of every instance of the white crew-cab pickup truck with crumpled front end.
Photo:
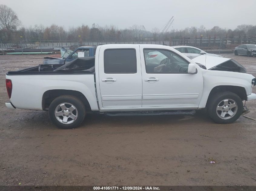
<svg viewBox="0 0 256 191">
<path fill-rule="evenodd" d="M 206 68 L 170 46 L 112 44 L 98 46 L 95 57 L 8 72 L 6 106 L 48 110 L 64 129 L 79 126 L 89 112 L 171 114 L 207 108 L 216 123 L 232 123 L 243 112 L 242 101 L 256 99 L 255 84 L 234 60 Z"/>
</svg>

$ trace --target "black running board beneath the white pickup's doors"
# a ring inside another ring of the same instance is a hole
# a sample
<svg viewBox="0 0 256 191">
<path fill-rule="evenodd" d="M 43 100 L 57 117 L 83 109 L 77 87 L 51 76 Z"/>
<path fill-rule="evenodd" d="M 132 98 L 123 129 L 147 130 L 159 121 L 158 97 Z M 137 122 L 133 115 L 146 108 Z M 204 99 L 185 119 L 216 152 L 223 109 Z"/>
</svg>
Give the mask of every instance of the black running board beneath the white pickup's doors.
<svg viewBox="0 0 256 191">
<path fill-rule="evenodd" d="M 195 110 L 190 111 L 120 111 L 104 112 L 107 116 L 144 116 L 144 115 L 194 115 Z"/>
</svg>

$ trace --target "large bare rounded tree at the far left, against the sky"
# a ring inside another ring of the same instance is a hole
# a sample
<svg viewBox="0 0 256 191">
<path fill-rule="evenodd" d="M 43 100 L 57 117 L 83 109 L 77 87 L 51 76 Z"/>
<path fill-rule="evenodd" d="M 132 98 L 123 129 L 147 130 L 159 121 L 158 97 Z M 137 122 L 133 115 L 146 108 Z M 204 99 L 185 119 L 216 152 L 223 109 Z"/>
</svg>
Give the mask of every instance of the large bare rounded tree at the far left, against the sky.
<svg viewBox="0 0 256 191">
<path fill-rule="evenodd" d="M 0 29 L 3 31 L 6 40 L 11 39 L 12 33 L 20 25 L 16 13 L 6 5 L 0 5 Z"/>
</svg>

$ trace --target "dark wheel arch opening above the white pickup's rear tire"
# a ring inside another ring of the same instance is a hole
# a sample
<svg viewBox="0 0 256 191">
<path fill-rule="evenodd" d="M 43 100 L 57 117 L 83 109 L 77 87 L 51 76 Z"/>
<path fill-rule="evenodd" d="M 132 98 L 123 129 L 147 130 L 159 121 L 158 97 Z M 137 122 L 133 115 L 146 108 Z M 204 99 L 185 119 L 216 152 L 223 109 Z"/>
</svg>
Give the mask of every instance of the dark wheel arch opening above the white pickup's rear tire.
<svg viewBox="0 0 256 191">
<path fill-rule="evenodd" d="M 43 110 L 46 110 L 49 108 L 49 105 L 52 103 L 52 101 L 62 95 L 72 95 L 75 97 L 78 97 L 84 104 L 85 104 L 85 109 L 86 111 L 91 111 L 91 106 L 86 99 L 85 95 L 82 94 L 79 91 L 74 91 L 74 90 L 48 90 L 43 94 L 42 97 L 42 108 Z"/>
</svg>

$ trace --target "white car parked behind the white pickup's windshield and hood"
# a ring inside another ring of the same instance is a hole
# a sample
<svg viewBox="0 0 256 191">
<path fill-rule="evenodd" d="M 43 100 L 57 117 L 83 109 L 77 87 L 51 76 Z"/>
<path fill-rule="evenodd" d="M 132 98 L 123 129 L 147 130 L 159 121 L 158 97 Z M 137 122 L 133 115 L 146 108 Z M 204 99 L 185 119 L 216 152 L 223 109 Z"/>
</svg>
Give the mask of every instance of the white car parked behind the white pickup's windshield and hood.
<svg viewBox="0 0 256 191">
<path fill-rule="evenodd" d="M 188 58 L 193 59 L 195 57 L 198 57 L 202 54 L 207 54 L 207 56 L 218 56 L 218 57 L 222 57 L 218 54 L 210 54 L 210 53 L 206 53 L 205 51 L 196 48 L 194 46 L 172 46 L 174 49 L 178 50 L 179 52 L 181 52 L 182 54 L 184 54 L 185 56 L 188 56 Z"/>
</svg>

